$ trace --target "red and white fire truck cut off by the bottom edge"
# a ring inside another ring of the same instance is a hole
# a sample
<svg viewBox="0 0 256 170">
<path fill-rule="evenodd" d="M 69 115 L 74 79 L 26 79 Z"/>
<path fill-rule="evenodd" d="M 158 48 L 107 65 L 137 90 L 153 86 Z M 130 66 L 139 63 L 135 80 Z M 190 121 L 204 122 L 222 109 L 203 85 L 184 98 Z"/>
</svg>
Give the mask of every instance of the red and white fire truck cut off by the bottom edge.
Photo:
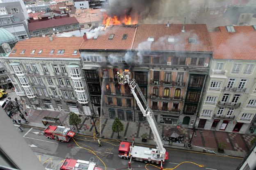
<svg viewBox="0 0 256 170">
<path fill-rule="evenodd" d="M 66 158 L 60 170 L 102 170 L 102 168 L 98 168 L 94 162 Z"/>
</svg>

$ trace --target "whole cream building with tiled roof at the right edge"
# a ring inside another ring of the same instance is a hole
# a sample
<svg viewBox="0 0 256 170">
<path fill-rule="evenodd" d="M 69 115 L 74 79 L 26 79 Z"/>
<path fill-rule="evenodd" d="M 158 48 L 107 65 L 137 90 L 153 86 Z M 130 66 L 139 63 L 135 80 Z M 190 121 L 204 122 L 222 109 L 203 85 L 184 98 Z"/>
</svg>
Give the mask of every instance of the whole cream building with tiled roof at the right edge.
<svg viewBox="0 0 256 170">
<path fill-rule="evenodd" d="M 255 28 L 226 26 L 210 32 L 214 53 L 198 128 L 256 133 Z"/>
</svg>

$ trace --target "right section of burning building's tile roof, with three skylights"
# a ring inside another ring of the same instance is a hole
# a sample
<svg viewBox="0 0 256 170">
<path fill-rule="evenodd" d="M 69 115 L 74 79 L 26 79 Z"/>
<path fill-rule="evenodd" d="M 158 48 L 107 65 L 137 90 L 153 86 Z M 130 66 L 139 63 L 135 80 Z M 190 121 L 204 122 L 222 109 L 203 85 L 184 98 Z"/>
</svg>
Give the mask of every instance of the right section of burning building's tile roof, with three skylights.
<svg viewBox="0 0 256 170">
<path fill-rule="evenodd" d="M 133 49 L 159 50 L 159 51 L 206 51 L 212 50 L 210 36 L 205 24 L 187 24 L 185 32 L 181 32 L 182 24 L 139 25 L 137 28 Z M 148 38 L 154 42 L 147 42 Z M 174 38 L 175 42 L 167 42 Z M 189 38 L 196 38 L 195 43 L 190 43 Z"/>
</svg>

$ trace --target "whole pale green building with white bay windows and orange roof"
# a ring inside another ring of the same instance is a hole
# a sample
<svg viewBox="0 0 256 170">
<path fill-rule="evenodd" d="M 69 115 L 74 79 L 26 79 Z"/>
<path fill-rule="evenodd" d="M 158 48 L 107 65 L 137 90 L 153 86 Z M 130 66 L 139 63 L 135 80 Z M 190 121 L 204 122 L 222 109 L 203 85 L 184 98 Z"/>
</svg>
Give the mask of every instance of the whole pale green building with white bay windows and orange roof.
<svg viewBox="0 0 256 170">
<path fill-rule="evenodd" d="M 16 94 L 27 107 L 91 114 L 78 52 L 82 40 L 31 38 L 18 42 L 1 58 Z"/>
</svg>

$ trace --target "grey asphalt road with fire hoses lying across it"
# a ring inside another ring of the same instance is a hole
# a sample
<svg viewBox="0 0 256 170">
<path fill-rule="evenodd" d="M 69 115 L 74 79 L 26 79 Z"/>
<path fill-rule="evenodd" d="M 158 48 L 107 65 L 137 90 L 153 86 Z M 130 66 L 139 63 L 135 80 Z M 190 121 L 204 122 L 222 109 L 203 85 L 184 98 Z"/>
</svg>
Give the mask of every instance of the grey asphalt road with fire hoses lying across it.
<svg viewBox="0 0 256 170">
<path fill-rule="evenodd" d="M 118 157 L 119 143 L 117 141 L 103 139 L 103 146 L 98 147 L 96 139 L 78 134 L 69 143 L 62 143 L 46 139 L 42 134 L 43 129 L 22 128 L 21 135 L 46 168 L 59 170 L 66 157 L 95 162 L 103 170 L 105 166 L 107 170 L 128 168 L 128 160 Z M 98 157 L 91 151 L 95 152 Z M 241 158 L 224 157 L 190 150 L 171 148 L 167 149 L 167 152 L 169 152 L 169 160 L 165 161 L 164 168 L 174 168 L 175 170 L 235 170 L 242 161 Z M 155 166 L 139 161 L 132 161 L 131 165 L 136 170 L 156 169 Z"/>
</svg>

